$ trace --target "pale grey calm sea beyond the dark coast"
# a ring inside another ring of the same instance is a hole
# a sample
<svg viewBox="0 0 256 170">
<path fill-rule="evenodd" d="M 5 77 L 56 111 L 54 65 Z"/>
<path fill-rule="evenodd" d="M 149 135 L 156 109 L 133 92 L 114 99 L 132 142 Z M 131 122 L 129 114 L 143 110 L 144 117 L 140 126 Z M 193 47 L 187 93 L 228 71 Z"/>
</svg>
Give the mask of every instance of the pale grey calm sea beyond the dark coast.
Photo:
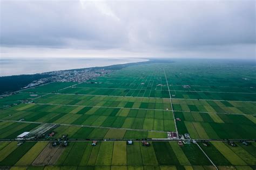
<svg viewBox="0 0 256 170">
<path fill-rule="evenodd" d="M 0 59 L 0 76 L 36 74 L 57 70 L 110 66 L 141 61 L 147 60 L 133 58 Z"/>
</svg>

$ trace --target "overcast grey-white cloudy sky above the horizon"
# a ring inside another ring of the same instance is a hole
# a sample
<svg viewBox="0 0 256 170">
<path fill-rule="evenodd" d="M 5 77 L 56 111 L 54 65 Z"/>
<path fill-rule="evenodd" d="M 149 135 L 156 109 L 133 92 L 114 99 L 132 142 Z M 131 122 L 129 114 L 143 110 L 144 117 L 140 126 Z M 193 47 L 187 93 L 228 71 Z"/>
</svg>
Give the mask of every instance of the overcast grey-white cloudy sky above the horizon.
<svg viewBox="0 0 256 170">
<path fill-rule="evenodd" d="M 254 0 L 0 2 L 1 58 L 256 58 Z"/>
</svg>

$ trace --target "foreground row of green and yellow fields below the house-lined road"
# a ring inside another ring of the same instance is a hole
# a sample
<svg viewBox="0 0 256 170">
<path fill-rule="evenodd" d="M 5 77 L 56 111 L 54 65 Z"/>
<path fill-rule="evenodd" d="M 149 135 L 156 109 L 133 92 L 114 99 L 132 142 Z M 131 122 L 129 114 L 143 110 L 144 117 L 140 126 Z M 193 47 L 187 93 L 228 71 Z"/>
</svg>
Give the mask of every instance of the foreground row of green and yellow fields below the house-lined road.
<svg viewBox="0 0 256 170">
<path fill-rule="evenodd" d="M 98 142 L 97 146 L 91 146 L 91 142 L 77 141 L 70 142 L 69 146 L 65 148 L 52 147 L 48 144 L 46 141 L 26 141 L 17 147 L 16 141 L 2 141 L 0 143 L 0 146 L 3 146 L 0 150 L 0 166 L 33 168 L 41 165 L 42 169 L 50 168 L 49 165 L 56 168 L 75 167 L 75 169 L 214 168 L 200 148 L 193 143 L 179 146 L 177 141 L 153 141 L 150 142 L 151 146 L 146 147 L 142 146 L 141 142 L 126 145 L 125 141 L 103 141 Z M 255 143 L 249 146 L 237 143 L 237 147 L 229 146 L 221 141 L 211 142 L 207 147 L 200 142 L 198 144 L 211 158 L 214 165 L 220 169 L 255 168 L 256 158 L 253 152 Z M 62 154 L 58 154 L 56 150 L 60 150 Z M 12 159 L 10 160 L 10 158 Z"/>
</svg>

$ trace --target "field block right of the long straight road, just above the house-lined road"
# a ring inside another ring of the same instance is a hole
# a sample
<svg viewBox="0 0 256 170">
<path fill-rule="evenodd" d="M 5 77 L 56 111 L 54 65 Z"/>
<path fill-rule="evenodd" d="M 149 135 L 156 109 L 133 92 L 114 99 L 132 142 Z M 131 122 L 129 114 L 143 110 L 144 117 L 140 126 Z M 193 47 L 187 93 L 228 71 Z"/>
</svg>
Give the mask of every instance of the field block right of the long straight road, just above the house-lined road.
<svg viewBox="0 0 256 170">
<path fill-rule="evenodd" d="M 179 134 L 201 139 L 255 139 L 256 125 L 245 115 L 175 112 Z"/>
</svg>

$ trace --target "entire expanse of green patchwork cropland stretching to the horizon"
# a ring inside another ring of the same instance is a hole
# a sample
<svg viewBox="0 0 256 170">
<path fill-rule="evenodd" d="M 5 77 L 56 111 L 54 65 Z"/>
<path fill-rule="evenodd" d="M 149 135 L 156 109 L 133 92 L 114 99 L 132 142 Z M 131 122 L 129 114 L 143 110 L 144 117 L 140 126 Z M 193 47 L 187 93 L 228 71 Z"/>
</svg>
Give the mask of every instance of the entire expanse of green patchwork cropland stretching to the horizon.
<svg viewBox="0 0 256 170">
<path fill-rule="evenodd" d="M 21 90 L 0 98 L 0 167 L 255 169 L 255 75 L 249 61 L 156 60 Z"/>
</svg>

